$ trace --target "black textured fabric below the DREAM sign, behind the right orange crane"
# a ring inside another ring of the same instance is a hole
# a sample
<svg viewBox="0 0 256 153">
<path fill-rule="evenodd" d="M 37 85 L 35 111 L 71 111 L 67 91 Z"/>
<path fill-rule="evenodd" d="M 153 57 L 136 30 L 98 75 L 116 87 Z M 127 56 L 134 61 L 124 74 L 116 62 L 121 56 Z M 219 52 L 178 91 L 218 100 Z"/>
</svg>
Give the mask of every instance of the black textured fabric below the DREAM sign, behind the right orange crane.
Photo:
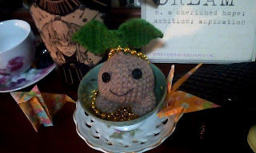
<svg viewBox="0 0 256 153">
<path fill-rule="evenodd" d="M 255 84 L 256 63 L 243 62 L 200 68 L 178 90 L 224 107 L 255 109 Z"/>
</svg>

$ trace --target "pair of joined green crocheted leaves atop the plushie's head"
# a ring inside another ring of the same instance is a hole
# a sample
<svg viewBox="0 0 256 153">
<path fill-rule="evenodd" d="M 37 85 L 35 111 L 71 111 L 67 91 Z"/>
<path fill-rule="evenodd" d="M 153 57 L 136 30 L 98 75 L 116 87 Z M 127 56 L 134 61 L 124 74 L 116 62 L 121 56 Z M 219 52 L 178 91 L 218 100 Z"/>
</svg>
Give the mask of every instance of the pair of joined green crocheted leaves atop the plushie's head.
<svg viewBox="0 0 256 153">
<path fill-rule="evenodd" d="M 104 53 L 106 49 L 122 47 L 140 48 L 163 33 L 143 19 L 131 19 L 117 30 L 109 30 L 102 22 L 92 20 L 74 33 L 73 40 L 92 53 Z"/>
</svg>

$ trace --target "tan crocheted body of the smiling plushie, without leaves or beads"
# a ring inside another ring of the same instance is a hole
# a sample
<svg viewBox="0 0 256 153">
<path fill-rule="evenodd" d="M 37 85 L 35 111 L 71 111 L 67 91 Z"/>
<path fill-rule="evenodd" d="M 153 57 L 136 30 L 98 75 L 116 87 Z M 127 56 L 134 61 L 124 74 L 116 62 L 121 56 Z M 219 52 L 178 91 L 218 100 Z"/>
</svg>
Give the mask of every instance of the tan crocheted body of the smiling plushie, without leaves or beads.
<svg viewBox="0 0 256 153">
<path fill-rule="evenodd" d="M 140 69 L 142 77 L 134 79 L 134 69 Z M 109 82 L 102 81 L 102 74 L 109 73 Z M 96 107 L 103 113 L 130 106 L 138 116 L 145 115 L 156 107 L 154 73 L 147 61 L 131 54 L 115 53 L 98 73 Z"/>
</svg>

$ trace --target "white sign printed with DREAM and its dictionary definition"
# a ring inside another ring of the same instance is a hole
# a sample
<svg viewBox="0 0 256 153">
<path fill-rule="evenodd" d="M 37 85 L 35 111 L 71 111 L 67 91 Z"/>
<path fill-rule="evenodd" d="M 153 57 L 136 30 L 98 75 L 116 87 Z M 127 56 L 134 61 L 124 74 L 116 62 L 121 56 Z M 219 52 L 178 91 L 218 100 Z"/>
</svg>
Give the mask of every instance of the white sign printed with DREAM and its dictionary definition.
<svg viewBox="0 0 256 153">
<path fill-rule="evenodd" d="M 142 52 L 158 63 L 255 61 L 255 0 L 142 0 L 142 18 L 164 33 Z"/>
</svg>

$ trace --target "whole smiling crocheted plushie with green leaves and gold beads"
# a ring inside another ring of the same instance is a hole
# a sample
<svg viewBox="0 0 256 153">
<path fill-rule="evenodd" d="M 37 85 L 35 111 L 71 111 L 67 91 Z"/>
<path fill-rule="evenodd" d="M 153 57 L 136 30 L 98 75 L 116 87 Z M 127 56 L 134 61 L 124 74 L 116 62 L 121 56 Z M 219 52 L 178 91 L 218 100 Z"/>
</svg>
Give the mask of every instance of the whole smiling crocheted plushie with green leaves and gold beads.
<svg viewBox="0 0 256 153">
<path fill-rule="evenodd" d="M 142 19 L 125 22 L 118 30 L 92 21 L 74 34 L 74 41 L 93 53 L 110 49 L 109 59 L 98 73 L 100 92 L 92 101 L 96 114 L 132 120 L 156 107 L 153 70 L 147 57 L 131 48 L 140 48 L 157 37 L 163 37 L 162 32 Z"/>
</svg>

